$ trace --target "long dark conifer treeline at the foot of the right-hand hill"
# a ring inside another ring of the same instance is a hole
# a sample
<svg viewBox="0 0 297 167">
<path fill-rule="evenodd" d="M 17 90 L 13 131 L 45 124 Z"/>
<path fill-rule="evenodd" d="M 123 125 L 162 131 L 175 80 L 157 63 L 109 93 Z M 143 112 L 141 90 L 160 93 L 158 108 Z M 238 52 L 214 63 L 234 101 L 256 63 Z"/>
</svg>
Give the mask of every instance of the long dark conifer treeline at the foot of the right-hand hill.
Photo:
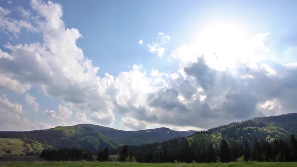
<svg viewBox="0 0 297 167">
<path fill-rule="evenodd" d="M 126 147 L 126 148 L 125 148 Z M 172 139 L 162 143 L 141 146 L 125 146 L 131 151 L 131 157 L 138 162 L 232 162 L 232 161 L 297 161 L 297 139 L 291 135 L 290 140 L 272 142 L 256 140 L 252 144 L 245 142 L 227 142 L 224 138 L 219 145 L 211 142 L 204 147 L 192 146 L 187 138 Z M 126 153 L 127 155 L 127 153 Z"/>
</svg>

